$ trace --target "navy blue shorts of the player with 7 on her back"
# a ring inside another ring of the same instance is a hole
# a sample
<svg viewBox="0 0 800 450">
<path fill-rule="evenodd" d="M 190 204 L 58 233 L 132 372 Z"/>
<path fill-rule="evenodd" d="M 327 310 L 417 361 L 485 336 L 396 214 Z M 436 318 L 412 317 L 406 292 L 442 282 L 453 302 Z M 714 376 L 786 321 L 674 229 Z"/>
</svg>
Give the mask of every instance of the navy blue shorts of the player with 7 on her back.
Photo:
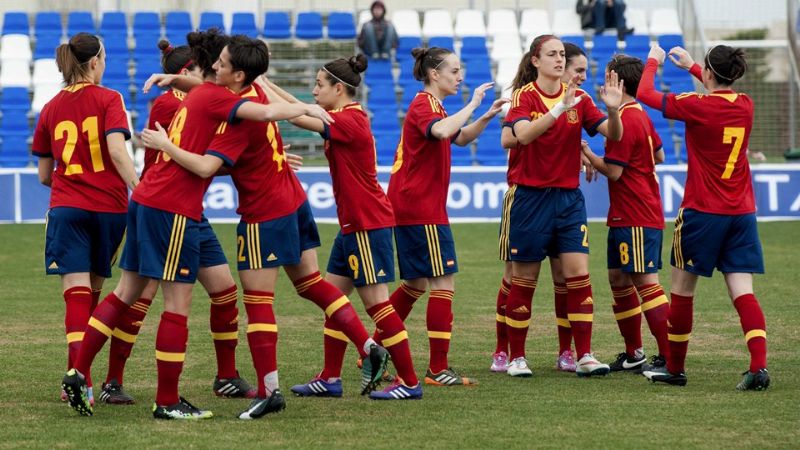
<svg viewBox="0 0 800 450">
<path fill-rule="evenodd" d="M 725 216 L 693 209 L 678 211 L 670 263 L 710 277 L 722 273 L 764 273 L 755 214 Z"/>
</svg>

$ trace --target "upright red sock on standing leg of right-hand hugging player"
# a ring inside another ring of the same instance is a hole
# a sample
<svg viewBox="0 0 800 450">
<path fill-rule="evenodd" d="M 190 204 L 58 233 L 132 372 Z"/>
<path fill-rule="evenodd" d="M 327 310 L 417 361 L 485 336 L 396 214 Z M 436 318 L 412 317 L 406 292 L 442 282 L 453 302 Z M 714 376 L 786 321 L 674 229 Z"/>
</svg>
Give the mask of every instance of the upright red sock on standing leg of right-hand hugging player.
<svg viewBox="0 0 800 450">
<path fill-rule="evenodd" d="M 244 309 L 247 311 L 247 344 L 256 368 L 258 398 L 267 398 L 264 377 L 278 370 L 278 325 L 272 292 L 244 291 Z"/>
</svg>

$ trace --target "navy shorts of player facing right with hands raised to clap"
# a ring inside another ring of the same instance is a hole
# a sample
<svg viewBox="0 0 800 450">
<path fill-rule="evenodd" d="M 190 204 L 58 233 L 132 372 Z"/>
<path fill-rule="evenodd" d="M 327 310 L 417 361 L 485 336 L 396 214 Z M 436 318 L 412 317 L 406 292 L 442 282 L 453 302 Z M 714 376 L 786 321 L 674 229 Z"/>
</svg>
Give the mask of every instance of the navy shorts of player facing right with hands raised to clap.
<svg viewBox="0 0 800 450">
<path fill-rule="evenodd" d="M 435 278 L 458 272 L 450 225 L 404 225 L 394 229 L 400 278 Z"/>
</svg>

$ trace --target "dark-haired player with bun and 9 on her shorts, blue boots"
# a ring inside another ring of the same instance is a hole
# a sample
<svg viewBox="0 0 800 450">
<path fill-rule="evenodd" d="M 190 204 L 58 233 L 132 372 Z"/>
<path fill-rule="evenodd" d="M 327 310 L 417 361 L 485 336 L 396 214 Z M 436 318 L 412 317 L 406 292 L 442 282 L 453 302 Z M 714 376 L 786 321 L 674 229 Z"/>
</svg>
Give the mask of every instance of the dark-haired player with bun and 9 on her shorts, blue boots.
<svg viewBox="0 0 800 450">
<path fill-rule="evenodd" d="M 325 280 L 350 295 L 358 291 L 379 337 L 389 351 L 398 378 L 373 399 L 422 398 L 422 386 L 414 372 L 408 333 L 403 320 L 389 303 L 387 283 L 394 281 L 392 205 L 378 184 L 375 139 L 369 119 L 353 98 L 367 69 L 364 55 L 328 62 L 317 72 L 313 95 L 317 104 L 334 119 L 330 125 L 318 119 L 299 117 L 291 122 L 325 139 L 325 156 L 333 179 L 333 193 L 341 230 L 333 243 Z M 287 92 L 269 87 L 285 101 L 297 101 Z M 306 384 L 292 387 L 300 396 L 342 395 L 342 363 L 348 339 L 339 326 L 326 319 L 324 325 L 325 367 Z"/>
</svg>

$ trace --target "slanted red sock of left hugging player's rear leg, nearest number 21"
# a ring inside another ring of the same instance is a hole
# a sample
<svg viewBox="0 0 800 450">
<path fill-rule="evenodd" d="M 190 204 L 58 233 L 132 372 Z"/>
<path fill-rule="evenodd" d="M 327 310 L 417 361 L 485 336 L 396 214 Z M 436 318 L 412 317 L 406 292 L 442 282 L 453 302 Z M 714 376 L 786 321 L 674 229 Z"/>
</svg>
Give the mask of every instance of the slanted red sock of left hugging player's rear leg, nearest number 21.
<svg viewBox="0 0 800 450">
<path fill-rule="evenodd" d="M 97 305 L 89 319 L 74 366 L 86 377 L 87 382 L 91 376 L 94 357 L 103 348 L 106 340 L 111 337 L 112 330 L 117 327 L 119 318 L 125 314 L 127 309 L 128 305 L 122 303 L 122 300 L 112 291 L 102 303 Z"/>
</svg>

